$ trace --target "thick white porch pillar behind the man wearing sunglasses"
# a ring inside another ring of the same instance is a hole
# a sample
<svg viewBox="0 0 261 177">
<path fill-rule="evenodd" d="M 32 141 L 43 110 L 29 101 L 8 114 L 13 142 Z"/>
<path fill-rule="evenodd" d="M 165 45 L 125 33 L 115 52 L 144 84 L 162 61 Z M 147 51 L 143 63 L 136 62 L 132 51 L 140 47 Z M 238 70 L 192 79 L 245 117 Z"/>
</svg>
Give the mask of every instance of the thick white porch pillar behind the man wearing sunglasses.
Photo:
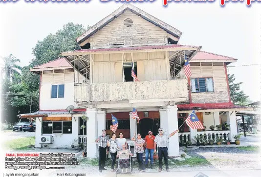
<svg viewBox="0 0 261 177">
<path fill-rule="evenodd" d="M 171 134 L 178 129 L 177 106 L 166 106 L 159 110 L 160 126 L 165 134 Z M 178 133 L 169 139 L 168 155 L 170 157 L 179 156 Z"/>
</svg>

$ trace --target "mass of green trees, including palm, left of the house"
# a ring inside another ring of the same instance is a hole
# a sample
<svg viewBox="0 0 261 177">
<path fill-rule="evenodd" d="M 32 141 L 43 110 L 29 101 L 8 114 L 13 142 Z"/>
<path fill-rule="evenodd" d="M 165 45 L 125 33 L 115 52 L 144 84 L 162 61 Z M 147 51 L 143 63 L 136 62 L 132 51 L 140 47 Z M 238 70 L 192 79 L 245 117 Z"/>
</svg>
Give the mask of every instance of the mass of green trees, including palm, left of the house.
<svg viewBox="0 0 261 177">
<path fill-rule="evenodd" d="M 89 26 L 87 27 L 89 28 Z M 20 59 L 10 54 L 2 58 L 5 62 L 1 73 L 5 74 L 1 89 L 1 121 L 16 122 L 17 115 L 38 111 L 40 76 L 30 72 L 30 68 L 57 59 L 60 53 L 80 49 L 76 38 L 86 29 L 81 24 L 69 22 L 55 34 L 47 35 L 39 40 L 33 48 L 32 59 L 28 66 L 17 65 Z M 21 74 L 18 72 L 21 71 Z"/>
</svg>

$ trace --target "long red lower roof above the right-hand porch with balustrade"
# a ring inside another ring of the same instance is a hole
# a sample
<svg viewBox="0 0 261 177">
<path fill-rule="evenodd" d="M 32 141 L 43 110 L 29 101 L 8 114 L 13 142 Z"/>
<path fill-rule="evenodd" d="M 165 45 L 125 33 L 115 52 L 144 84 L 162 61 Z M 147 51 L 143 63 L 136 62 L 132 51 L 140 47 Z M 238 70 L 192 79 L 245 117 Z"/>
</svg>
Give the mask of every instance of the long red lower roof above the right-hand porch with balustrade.
<svg viewBox="0 0 261 177">
<path fill-rule="evenodd" d="M 232 103 L 191 103 L 177 105 L 178 111 L 211 110 L 211 109 L 251 109 L 246 106 L 238 106 Z"/>
</svg>

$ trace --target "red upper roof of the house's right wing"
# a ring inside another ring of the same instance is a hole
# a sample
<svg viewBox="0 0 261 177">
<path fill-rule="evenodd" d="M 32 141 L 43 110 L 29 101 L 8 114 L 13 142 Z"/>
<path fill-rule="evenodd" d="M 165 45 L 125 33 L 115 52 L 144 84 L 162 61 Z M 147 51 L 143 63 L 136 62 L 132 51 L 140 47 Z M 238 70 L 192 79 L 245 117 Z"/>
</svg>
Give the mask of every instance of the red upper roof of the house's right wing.
<svg viewBox="0 0 261 177">
<path fill-rule="evenodd" d="M 235 60 L 231 57 L 226 57 L 210 52 L 199 51 L 191 60 Z"/>
</svg>

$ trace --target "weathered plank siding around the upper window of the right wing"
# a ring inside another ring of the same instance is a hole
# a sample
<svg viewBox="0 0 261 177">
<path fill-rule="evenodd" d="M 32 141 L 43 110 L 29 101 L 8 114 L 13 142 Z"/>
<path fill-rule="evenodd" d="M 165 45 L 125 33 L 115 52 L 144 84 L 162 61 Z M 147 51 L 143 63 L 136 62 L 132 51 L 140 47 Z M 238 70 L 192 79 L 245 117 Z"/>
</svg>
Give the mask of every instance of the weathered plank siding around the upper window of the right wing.
<svg viewBox="0 0 261 177">
<path fill-rule="evenodd" d="M 191 78 L 213 78 L 214 92 L 191 93 L 193 103 L 229 102 L 223 62 L 191 62 Z M 184 76 L 184 70 L 182 69 Z"/>
</svg>

